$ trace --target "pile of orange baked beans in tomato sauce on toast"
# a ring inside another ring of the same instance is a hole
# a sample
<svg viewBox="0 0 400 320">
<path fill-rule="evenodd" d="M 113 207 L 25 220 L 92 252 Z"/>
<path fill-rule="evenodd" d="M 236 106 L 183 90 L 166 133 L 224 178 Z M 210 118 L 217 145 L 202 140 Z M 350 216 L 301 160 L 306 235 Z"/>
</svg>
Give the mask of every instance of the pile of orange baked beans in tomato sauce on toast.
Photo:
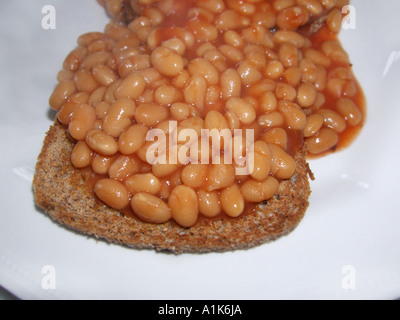
<svg viewBox="0 0 400 320">
<path fill-rule="evenodd" d="M 309 154 L 325 154 L 363 122 L 337 40 L 347 1 L 103 4 L 114 17 L 127 7 L 136 17 L 80 36 L 49 102 L 75 140 L 72 164 L 93 171 L 95 194 L 112 208 L 183 227 L 200 215 L 238 217 L 293 176 L 304 143 Z M 322 16 L 322 28 L 307 33 Z M 253 172 L 236 175 L 234 162 L 149 163 L 147 133 L 168 137 L 171 120 L 178 131 L 253 130 Z"/>
</svg>

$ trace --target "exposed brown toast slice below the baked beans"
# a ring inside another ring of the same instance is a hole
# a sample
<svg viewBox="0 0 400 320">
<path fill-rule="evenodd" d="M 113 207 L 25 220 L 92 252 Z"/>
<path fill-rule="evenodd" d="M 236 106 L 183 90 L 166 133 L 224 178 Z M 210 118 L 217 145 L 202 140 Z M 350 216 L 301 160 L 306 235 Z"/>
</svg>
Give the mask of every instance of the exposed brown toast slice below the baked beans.
<svg viewBox="0 0 400 320">
<path fill-rule="evenodd" d="M 152 224 L 124 216 L 103 204 L 88 188 L 80 170 L 73 168 L 73 142 L 56 120 L 38 156 L 33 191 L 36 204 L 54 221 L 80 233 L 136 249 L 180 253 L 248 249 L 292 232 L 302 220 L 310 196 L 311 171 L 302 149 L 291 180 L 277 194 L 239 218 L 201 219 L 191 228 L 174 221 Z"/>
</svg>

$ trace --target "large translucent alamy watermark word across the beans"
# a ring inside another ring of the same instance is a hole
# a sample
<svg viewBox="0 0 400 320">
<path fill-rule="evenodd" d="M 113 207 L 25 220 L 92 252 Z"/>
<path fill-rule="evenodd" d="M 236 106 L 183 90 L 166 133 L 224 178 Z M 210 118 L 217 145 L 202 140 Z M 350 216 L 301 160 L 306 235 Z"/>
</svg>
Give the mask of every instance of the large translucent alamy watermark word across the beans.
<svg viewBox="0 0 400 320">
<path fill-rule="evenodd" d="M 168 137 L 164 130 L 151 129 L 146 151 L 149 164 L 234 164 L 237 175 L 250 175 L 254 170 L 254 129 L 178 128 L 169 121 Z"/>
</svg>

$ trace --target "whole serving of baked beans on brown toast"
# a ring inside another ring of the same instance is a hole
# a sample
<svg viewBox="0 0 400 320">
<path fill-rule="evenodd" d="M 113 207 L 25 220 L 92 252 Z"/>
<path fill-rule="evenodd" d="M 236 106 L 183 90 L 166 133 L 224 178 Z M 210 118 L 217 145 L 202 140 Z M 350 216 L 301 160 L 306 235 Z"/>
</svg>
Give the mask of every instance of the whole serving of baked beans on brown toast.
<svg viewBox="0 0 400 320">
<path fill-rule="evenodd" d="M 342 0 L 103 0 L 49 99 L 35 200 L 81 233 L 174 253 L 293 231 L 307 158 L 365 121 Z"/>
</svg>

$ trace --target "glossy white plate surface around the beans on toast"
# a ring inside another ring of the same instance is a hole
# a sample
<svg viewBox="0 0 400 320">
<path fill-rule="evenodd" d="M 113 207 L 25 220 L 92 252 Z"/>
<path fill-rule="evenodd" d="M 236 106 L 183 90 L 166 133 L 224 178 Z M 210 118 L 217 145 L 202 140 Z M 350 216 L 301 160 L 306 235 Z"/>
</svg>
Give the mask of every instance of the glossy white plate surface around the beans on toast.
<svg viewBox="0 0 400 320">
<path fill-rule="evenodd" d="M 55 30 L 42 28 L 49 4 Z M 97 242 L 35 208 L 33 168 L 56 73 L 77 37 L 108 18 L 95 0 L 1 1 L 0 284 L 22 299 L 400 297 L 400 2 L 352 5 L 356 29 L 341 38 L 368 121 L 350 148 L 311 162 L 317 180 L 302 223 L 248 251 L 174 256 Z"/>
</svg>

